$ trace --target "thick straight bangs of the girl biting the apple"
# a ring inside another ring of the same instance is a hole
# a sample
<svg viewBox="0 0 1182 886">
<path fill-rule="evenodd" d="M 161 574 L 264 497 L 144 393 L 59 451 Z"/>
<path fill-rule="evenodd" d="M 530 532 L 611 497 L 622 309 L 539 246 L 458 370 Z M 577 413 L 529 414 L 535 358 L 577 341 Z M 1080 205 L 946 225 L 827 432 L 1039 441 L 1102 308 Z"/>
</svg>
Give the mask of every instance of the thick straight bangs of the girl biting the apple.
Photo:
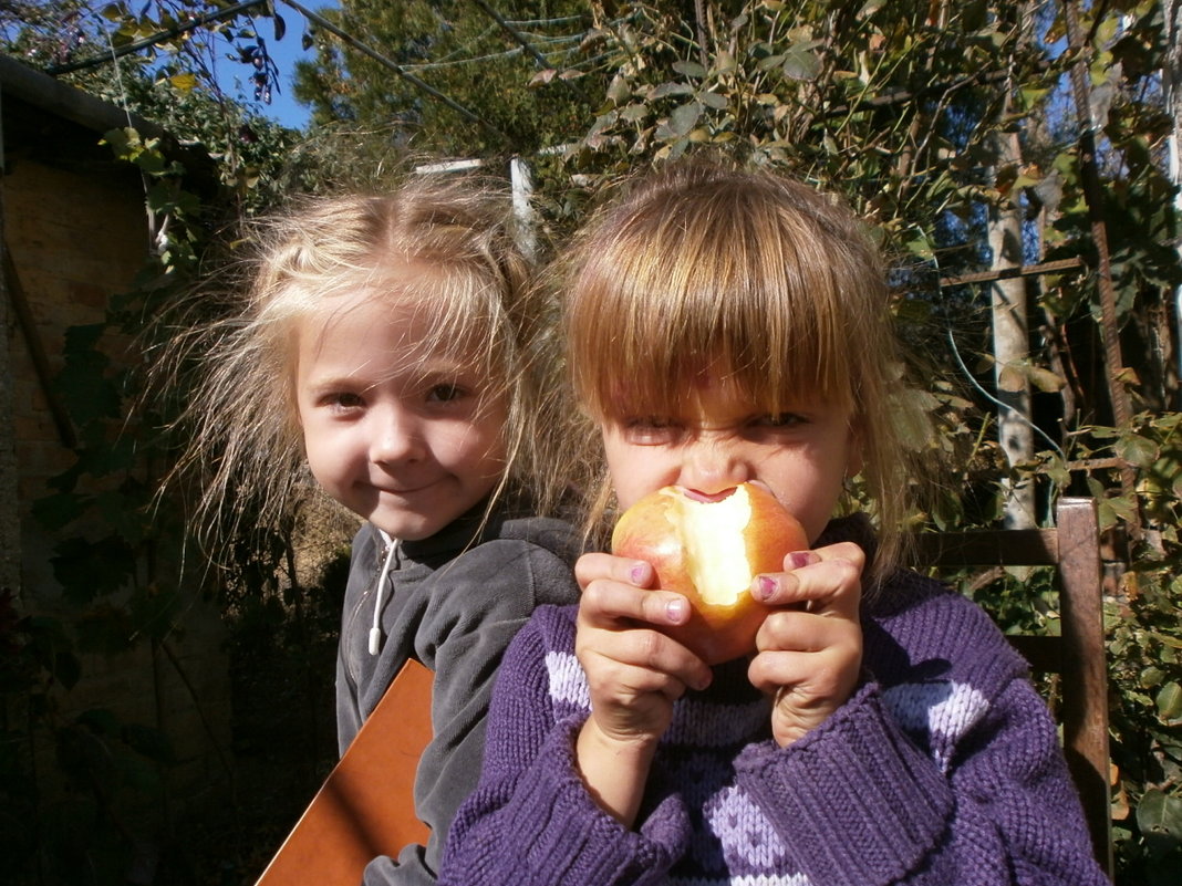
<svg viewBox="0 0 1182 886">
<path fill-rule="evenodd" d="M 590 413 L 663 415 L 707 370 L 772 412 L 801 397 L 853 406 L 882 293 L 862 245 L 834 255 L 816 219 L 741 190 L 690 196 L 693 209 L 609 220 L 577 268 L 570 358 Z"/>
</svg>

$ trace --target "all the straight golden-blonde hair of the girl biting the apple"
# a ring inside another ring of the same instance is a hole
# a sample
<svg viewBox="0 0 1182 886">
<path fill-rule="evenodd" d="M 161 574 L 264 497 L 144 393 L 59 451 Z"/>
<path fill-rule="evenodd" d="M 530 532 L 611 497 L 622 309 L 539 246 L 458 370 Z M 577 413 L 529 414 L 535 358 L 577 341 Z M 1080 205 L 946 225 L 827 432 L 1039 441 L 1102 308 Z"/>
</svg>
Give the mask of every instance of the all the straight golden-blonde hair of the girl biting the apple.
<svg viewBox="0 0 1182 886">
<path fill-rule="evenodd" d="M 879 525 L 875 574 L 897 562 L 907 454 L 884 269 L 834 197 L 766 170 L 690 159 L 625 183 L 563 269 L 574 396 L 600 423 L 665 415 L 712 361 L 769 412 L 808 391 L 851 410 Z M 591 484 L 602 539 L 610 484 Z"/>
</svg>

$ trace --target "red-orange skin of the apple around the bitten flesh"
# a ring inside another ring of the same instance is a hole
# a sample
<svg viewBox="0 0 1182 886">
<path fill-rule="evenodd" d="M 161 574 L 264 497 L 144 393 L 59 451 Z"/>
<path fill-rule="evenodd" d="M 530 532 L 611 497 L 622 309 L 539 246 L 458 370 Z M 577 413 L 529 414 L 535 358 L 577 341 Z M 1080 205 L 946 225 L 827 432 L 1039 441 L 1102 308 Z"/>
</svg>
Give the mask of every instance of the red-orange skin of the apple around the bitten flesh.
<svg viewBox="0 0 1182 886">
<path fill-rule="evenodd" d="M 784 558 L 806 549 L 808 536 L 771 491 L 752 483 L 742 486 L 752 508 L 743 530 L 751 573 L 782 572 Z M 667 516 L 675 507 L 674 496 L 690 497 L 678 487 L 665 487 L 625 510 L 612 532 L 612 554 L 651 563 L 656 588 L 684 594 L 690 604 L 689 620 L 662 631 L 706 664 L 713 666 L 748 654 L 755 650 L 755 634 L 769 610 L 746 589 L 730 605 L 702 600 L 687 572 L 682 541 Z M 699 506 L 710 507 L 708 502 Z"/>
</svg>

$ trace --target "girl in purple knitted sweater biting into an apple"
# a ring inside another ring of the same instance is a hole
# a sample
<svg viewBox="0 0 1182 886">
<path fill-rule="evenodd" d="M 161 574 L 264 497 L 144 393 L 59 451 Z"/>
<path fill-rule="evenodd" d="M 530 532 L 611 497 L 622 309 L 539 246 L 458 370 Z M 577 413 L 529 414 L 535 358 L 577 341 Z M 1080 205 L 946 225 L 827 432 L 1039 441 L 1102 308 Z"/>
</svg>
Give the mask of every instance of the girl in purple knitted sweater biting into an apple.
<svg viewBox="0 0 1182 886">
<path fill-rule="evenodd" d="M 1025 662 L 898 567 L 898 358 L 855 217 L 766 171 L 676 163 L 600 211 L 566 281 L 616 506 L 761 484 L 808 545 L 752 580 L 754 649 L 713 667 L 667 633 L 689 602 L 652 563 L 583 556 L 578 607 L 540 608 L 506 654 L 441 882 L 1106 882 Z M 877 533 L 836 516 L 856 474 Z"/>
</svg>

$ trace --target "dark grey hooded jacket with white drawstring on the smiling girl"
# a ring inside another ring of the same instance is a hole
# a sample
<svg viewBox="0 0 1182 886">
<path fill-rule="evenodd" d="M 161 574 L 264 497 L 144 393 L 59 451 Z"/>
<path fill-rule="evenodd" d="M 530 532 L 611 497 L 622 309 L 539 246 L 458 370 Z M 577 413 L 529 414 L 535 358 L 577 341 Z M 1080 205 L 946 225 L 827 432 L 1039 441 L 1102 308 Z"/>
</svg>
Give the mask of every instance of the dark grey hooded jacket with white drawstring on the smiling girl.
<svg viewBox="0 0 1182 886">
<path fill-rule="evenodd" d="M 480 776 L 501 654 L 540 604 L 578 599 L 577 554 L 567 523 L 505 510 L 485 520 L 485 503 L 429 539 L 394 542 L 392 552 L 372 525 L 357 533 L 337 656 L 342 753 L 408 657 L 435 672 L 434 738 L 415 777 L 416 814 L 431 836 L 371 861 L 365 884 L 435 882 L 452 816 Z M 375 612 L 381 637 L 371 654 Z"/>
</svg>

